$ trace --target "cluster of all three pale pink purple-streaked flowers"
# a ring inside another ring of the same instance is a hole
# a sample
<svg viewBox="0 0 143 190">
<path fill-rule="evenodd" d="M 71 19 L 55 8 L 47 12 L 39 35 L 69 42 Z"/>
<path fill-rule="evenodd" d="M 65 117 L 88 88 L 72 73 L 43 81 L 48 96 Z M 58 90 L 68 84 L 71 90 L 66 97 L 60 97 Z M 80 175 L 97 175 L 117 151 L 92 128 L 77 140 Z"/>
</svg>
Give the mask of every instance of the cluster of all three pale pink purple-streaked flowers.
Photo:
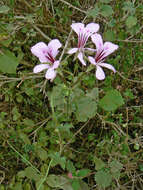
<svg viewBox="0 0 143 190">
<path fill-rule="evenodd" d="M 95 65 L 96 78 L 98 80 L 103 80 L 105 78 L 105 73 L 102 67 L 106 67 L 115 73 L 115 68 L 106 63 L 105 59 L 108 55 L 118 49 L 118 45 L 111 42 L 103 43 L 101 35 L 97 34 L 99 25 L 96 23 L 90 23 L 85 26 L 83 23 L 74 23 L 71 25 L 71 28 L 78 35 L 78 44 L 77 47 L 70 49 L 67 53 L 76 53 L 76 57 L 79 61 L 86 66 L 86 61 L 84 59 L 86 50 L 95 52 L 95 56 L 88 56 L 88 60 L 91 64 Z M 96 49 L 85 47 L 89 38 L 91 38 L 92 42 L 95 44 Z M 39 58 L 41 64 L 35 66 L 33 72 L 38 73 L 47 69 L 45 78 L 53 81 L 56 77 L 56 69 L 60 64 L 59 60 L 56 60 L 55 58 L 59 52 L 58 49 L 61 48 L 61 46 L 62 44 L 58 39 L 51 40 L 48 45 L 44 42 L 39 42 L 34 45 L 31 48 L 31 52 Z"/>
</svg>

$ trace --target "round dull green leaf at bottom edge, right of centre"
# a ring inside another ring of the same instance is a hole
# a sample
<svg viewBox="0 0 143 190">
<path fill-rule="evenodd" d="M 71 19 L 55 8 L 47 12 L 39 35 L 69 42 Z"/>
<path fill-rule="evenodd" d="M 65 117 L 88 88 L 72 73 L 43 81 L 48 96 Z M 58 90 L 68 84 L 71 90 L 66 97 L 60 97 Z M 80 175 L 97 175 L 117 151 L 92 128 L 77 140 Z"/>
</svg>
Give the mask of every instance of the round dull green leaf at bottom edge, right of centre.
<svg viewBox="0 0 143 190">
<path fill-rule="evenodd" d="M 105 172 L 105 171 L 98 171 L 95 174 L 95 181 L 96 183 L 102 187 L 102 188 L 106 188 L 109 187 L 111 185 L 112 182 L 112 176 L 109 172 Z"/>
</svg>

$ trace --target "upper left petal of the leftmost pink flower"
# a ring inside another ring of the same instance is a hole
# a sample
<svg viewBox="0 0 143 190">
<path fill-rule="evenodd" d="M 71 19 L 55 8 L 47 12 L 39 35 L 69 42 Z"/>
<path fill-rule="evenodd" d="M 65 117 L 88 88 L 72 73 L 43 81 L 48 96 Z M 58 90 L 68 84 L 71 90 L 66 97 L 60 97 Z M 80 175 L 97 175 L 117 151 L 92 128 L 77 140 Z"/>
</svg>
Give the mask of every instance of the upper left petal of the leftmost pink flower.
<svg viewBox="0 0 143 190">
<path fill-rule="evenodd" d="M 44 55 L 44 51 L 48 50 L 48 46 L 44 42 L 39 42 L 31 47 L 31 52 L 39 58 L 41 63 L 47 62 L 48 59 L 46 59 Z"/>
</svg>

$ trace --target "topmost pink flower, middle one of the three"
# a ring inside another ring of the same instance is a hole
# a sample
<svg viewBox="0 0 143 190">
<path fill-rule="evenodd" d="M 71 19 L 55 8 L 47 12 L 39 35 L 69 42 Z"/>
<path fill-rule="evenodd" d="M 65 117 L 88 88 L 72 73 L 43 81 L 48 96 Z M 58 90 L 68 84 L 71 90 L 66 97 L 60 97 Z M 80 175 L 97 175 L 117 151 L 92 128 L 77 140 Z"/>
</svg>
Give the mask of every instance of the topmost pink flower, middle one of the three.
<svg viewBox="0 0 143 190">
<path fill-rule="evenodd" d="M 84 56 L 84 50 L 85 45 L 88 40 L 88 38 L 96 33 L 99 30 L 99 25 L 95 23 L 87 24 L 86 27 L 83 23 L 74 23 L 71 25 L 72 29 L 77 33 L 78 35 L 78 45 L 77 48 L 72 48 L 68 51 L 68 54 L 73 54 L 78 52 L 78 59 L 83 64 L 86 65 L 85 60 L 83 59 Z"/>
</svg>

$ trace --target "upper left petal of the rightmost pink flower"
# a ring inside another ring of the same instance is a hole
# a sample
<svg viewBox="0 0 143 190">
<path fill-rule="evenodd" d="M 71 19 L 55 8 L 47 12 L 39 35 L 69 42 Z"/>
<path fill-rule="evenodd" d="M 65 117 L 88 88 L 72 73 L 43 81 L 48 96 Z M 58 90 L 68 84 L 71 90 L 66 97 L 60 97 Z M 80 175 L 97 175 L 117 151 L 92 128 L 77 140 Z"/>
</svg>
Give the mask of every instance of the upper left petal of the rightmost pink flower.
<svg viewBox="0 0 143 190">
<path fill-rule="evenodd" d="M 97 52 L 103 50 L 103 40 L 100 34 L 93 34 L 91 36 L 92 42 L 96 45 Z"/>
</svg>

